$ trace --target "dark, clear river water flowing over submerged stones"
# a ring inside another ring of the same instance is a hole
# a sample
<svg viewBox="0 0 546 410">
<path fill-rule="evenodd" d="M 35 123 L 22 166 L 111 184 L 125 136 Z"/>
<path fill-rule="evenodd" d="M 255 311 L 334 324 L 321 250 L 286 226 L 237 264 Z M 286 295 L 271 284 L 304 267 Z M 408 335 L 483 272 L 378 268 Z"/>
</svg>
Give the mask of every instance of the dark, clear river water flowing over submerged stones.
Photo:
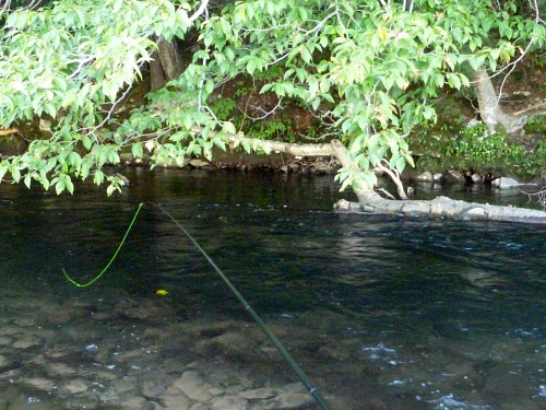
<svg viewBox="0 0 546 410">
<path fill-rule="evenodd" d="M 0 409 L 319 408 L 157 208 L 95 284 L 63 278 L 98 274 L 140 202 L 194 236 L 333 409 L 546 407 L 545 227 L 335 214 L 351 195 L 331 177 L 123 172 L 112 198 L 0 185 Z"/>
</svg>

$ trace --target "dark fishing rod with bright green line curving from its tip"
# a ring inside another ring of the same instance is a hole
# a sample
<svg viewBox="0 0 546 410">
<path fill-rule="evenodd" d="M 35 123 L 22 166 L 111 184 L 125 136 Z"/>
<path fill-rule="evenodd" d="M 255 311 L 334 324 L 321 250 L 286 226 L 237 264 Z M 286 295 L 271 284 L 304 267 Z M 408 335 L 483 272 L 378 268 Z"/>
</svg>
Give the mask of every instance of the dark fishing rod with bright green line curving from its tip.
<svg viewBox="0 0 546 410">
<path fill-rule="evenodd" d="M 165 215 L 167 215 L 173 223 L 178 226 L 178 229 L 190 239 L 190 242 L 199 249 L 199 251 L 203 255 L 203 257 L 209 261 L 209 263 L 213 267 L 213 269 L 216 271 L 216 273 L 221 277 L 221 279 L 224 281 L 224 283 L 229 288 L 232 293 L 237 297 L 237 300 L 241 303 L 244 306 L 245 311 L 249 313 L 249 315 L 254 319 L 254 321 L 258 324 L 260 329 L 268 336 L 270 341 L 273 343 L 273 345 L 276 348 L 276 350 L 281 353 L 281 355 L 288 362 L 289 366 L 296 372 L 300 380 L 304 383 L 306 386 L 307 390 L 311 395 L 311 397 L 317 401 L 317 403 L 323 409 L 323 410 L 331 410 L 332 408 L 328 403 L 328 401 L 324 399 L 324 397 L 320 394 L 319 389 L 312 384 L 311 379 L 307 376 L 307 374 L 301 370 L 301 367 L 296 363 L 294 358 L 288 353 L 288 351 L 285 349 L 283 343 L 277 339 L 277 337 L 271 331 L 271 329 L 265 325 L 265 323 L 262 320 L 262 318 L 256 313 L 256 311 L 250 306 L 248 301 L 242 296 L 242 294 L 237 290 L 237 288 L 233 284 L 233 282 L 227 278 L 227 276 L 222 271 L 222 269 L 218 268 L 218 266 L 214 262 L 214 260 L 209 256 L 209 254 L 199 245 L 199 243 L 195 241 L 195 238 L 182 226 L 180 222 L 178 222 L 166 209 L 164 209 L 162 206 L 158 203 L 154 202 L 149 202 L 153 207 L 157 208 L 161 210 Z M 62 269 L 63 276 L 75 286 L 78 288 L 85 288 L 90 286 L 93 283 L 95 283 L 103 274 L 108 270 L 110 265 L 114 262 L 116 259 L 119 250 L 123 246 L 123 243 L 127 239 L 127 236 L 129 235 L 129 232 L 131 231 L 134 221 L 136 220 L 136 216 L 141 210 L 141 208 L 144 206 L 144 203 L 140 203 L 139 208 L 136 209 L 136 212 L 134 213 L 134 216 L 123 236 L 121 239 L 121 243 L 119 244 L 118 248 L 116 249 L 114 256 L 110 258 L 106 267 L 100 271 L 100 273 L 95 277 L 93 280 L 86 283 L 79 283 L 75 280 L 73 280 L 64 269 Z"/>
</svg>

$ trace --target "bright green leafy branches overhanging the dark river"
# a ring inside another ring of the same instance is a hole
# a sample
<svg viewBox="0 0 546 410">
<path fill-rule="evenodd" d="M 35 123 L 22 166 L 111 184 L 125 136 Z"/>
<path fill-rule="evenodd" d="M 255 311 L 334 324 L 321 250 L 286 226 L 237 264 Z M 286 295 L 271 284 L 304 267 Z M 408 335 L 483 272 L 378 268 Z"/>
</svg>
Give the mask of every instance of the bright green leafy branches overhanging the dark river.
<svg viewBox="0 0 546 410">
<path fill-rule="evenodd" d="M 211 155 L 238 130 L 215 109 L 218 86 L 240 75 L 314 112 L 349 150 L 346 185 L 371 189 L 377 165 L 412 164 L 406 137 L 435 121 L 443 87 L 468 87 L 472 70 L 509 68 L 544 45 L 536 2 L 490 0 L 59 0 L 0 14 L 0 129 L 52 119 L 49 138 L 3 160 L 0 179 L 37 180 L 57 192 L 130 149 L 155 162 Z M 530 7 L 531 5 L 531 7 Z M 522 13 L 523 8 L 526 14 Z M 120 115 L 143 81 L 158 39 L 198 38 L 178 79 Z M 213 97 L 214 96 L 214 97 Z M 251 136 L 250 136 L 251 137 Z M 268 150 L 268 143 L 246 150 Z"/>
</svg>

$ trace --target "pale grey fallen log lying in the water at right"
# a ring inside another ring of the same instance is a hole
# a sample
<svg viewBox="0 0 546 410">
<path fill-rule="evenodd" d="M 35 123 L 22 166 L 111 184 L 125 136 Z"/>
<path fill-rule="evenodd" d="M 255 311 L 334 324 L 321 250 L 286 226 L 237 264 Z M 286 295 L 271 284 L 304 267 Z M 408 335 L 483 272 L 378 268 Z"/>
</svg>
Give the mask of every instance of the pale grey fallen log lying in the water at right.
<svg viewBox="0 0 546 410">
<path fill-rule="evenodd" d="M 465 202 L 447 197 L 438 197 L 432 200 L 396 201 L 384 199 L 379 194 L 372 191 L 360 194 L 358 197 L 359 202 L 349 202 L 344 199 L 337 201 L 334 204 L 335 211 L 343 213 L 427 216 L 459 221 L 502 221 L 546 224 L 546 211 L 535 209 Z"/>
</svg>

